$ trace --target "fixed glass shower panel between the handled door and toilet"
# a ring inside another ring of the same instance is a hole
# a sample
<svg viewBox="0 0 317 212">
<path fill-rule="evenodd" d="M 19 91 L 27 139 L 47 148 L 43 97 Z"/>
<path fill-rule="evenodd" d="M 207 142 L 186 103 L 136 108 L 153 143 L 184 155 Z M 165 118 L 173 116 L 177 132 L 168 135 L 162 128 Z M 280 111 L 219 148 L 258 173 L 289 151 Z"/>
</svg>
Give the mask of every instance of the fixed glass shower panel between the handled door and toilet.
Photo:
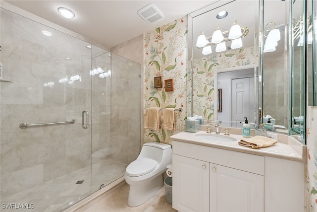
<svg viewBox="0 0 317 212">
<path fill-rule="evenodd" d="M 122 177 L 140 152 L 140 72 L 140 64 L 93 46 L 92 193 Z"/>
</svg>

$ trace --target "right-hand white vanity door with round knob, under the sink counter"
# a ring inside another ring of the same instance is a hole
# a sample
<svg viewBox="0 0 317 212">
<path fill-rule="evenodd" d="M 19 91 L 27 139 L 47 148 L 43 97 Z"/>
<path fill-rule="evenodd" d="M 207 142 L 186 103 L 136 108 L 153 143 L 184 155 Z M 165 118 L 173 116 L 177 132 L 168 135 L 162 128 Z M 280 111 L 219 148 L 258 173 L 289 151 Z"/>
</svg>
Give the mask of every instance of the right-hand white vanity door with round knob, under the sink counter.
<svg viewBox="0 0 317 212">
<path fill-rule="evenodd" d="M 263 212 L 264 176 L 210 164 L 211 212 Z"/>
</svg>

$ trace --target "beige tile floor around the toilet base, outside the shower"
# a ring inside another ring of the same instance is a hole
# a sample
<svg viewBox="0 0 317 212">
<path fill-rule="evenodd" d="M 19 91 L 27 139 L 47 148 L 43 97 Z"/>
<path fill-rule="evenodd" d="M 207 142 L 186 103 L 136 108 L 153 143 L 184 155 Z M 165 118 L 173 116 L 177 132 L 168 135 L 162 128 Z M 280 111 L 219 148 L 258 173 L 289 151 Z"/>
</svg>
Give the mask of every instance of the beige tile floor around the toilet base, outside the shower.
<svg viewBox="0 0 317 212">
<path fill-rule="evenodd" d="M 177 212 L 166 202 L 164 186 L 150 200 L 137 207 L 127 205 L 129 185 L 125 184 L 83 212 Z"/>
</svg>

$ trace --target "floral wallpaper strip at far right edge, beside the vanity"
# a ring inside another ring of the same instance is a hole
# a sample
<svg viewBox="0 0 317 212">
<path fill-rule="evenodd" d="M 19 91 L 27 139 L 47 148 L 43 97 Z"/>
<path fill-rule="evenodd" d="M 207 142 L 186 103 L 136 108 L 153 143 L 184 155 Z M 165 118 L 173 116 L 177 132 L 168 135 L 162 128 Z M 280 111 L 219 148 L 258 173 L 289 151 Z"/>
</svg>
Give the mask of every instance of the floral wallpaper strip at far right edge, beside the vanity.
<svg viewBox="0 0 317 212">
<path fill-rule="evenodd" d="M 306 212 L 317 211 L 317 107 L 308 107 L 306 126 L 307 164 L 305 168 Z"/>
</svg>

